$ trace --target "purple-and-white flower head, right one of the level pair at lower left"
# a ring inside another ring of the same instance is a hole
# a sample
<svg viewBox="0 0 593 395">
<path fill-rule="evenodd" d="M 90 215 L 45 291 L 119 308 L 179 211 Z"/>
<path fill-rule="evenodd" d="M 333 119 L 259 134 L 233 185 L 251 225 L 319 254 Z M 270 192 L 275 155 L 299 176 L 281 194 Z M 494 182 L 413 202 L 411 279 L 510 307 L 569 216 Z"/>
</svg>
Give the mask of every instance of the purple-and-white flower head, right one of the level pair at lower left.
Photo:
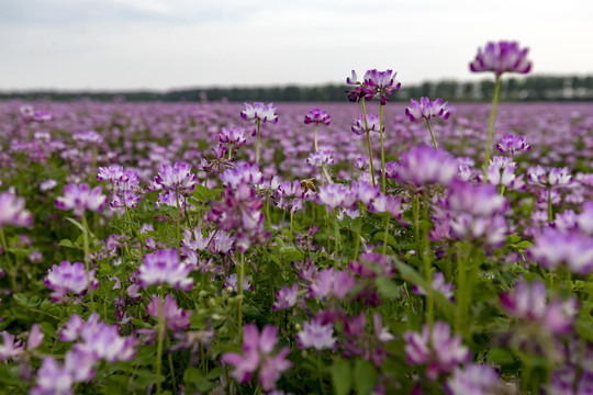
<svg viewBox="0 0 593 395">
<path fill-rule="evenodd" d="M 191 266 L 179 262 L 177 249 L 169 248 L 145 255 L 138 268 L 138 279 L 143 287 L 169 284 L 189 291 L 193 285 L 193 279 L 189 276 L 191 271 Z"/>
</svg>

